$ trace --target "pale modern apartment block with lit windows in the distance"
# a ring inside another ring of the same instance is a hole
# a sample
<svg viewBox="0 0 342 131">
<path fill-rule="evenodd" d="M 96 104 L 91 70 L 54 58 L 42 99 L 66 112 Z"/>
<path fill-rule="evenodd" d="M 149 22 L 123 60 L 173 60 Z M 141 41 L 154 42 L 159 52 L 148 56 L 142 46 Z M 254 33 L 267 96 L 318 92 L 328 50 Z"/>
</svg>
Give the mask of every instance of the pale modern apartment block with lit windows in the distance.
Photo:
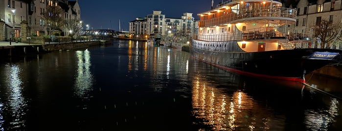
<svg viewBox="0 0 342 131">
<path fill-rule="evenodd" d="M 162 36 L 191 36 L 195 33 L 196 21 L 192 13 L 183 13 L 180 18 L 167 18 L 161 11 L 154 10 L 153 14 L 147 15 L 144 19 L 129 22 L 129 32 L 137 39 L 150 35 Z"/>
</svg>

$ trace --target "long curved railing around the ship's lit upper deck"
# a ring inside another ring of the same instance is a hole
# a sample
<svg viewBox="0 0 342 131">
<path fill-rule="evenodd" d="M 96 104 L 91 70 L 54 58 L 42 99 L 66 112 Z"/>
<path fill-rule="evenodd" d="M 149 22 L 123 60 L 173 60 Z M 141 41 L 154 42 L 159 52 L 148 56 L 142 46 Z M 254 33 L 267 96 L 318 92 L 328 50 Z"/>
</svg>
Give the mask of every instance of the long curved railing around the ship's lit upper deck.
<svg viewBox="0 0 342 131">
<path fill-rule="evenodd" d="M 225 14 L 216 18 L 210 18 L 209 20 L 202 20 L 199 22 L 200 27 L 212 27 L 218 25 L 224 25 L 232 22 L 237 22 L 239 19 L 246 18 L 257 18 L 256 21 L 259 21 L 260 17 L 281 17 L 281 18 L 290 18 L 295 22 L 296 13 L 295 9 L 290 8 L 272 8 L 269 7 L 261 7 L 261 8 L 251 8 L 251 9 L 242 9 L 238 12 L 233 12 L 229 14 Z"/>
</svg>

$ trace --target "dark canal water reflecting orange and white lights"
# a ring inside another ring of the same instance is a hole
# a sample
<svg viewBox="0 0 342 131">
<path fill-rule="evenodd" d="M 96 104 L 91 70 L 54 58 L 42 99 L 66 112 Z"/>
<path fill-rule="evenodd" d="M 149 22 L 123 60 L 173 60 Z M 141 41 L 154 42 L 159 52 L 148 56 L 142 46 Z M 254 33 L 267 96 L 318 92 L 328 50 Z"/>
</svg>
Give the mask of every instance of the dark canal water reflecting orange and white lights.
<svg viewBox="0 0 342 131">
<path fill-rule="evenodd" d="M 342 81 L 306 77 L 316 89 L 118 40 L 12 58 L 0 63 L 0 131 L 342 131 Z"/>
</svg>

